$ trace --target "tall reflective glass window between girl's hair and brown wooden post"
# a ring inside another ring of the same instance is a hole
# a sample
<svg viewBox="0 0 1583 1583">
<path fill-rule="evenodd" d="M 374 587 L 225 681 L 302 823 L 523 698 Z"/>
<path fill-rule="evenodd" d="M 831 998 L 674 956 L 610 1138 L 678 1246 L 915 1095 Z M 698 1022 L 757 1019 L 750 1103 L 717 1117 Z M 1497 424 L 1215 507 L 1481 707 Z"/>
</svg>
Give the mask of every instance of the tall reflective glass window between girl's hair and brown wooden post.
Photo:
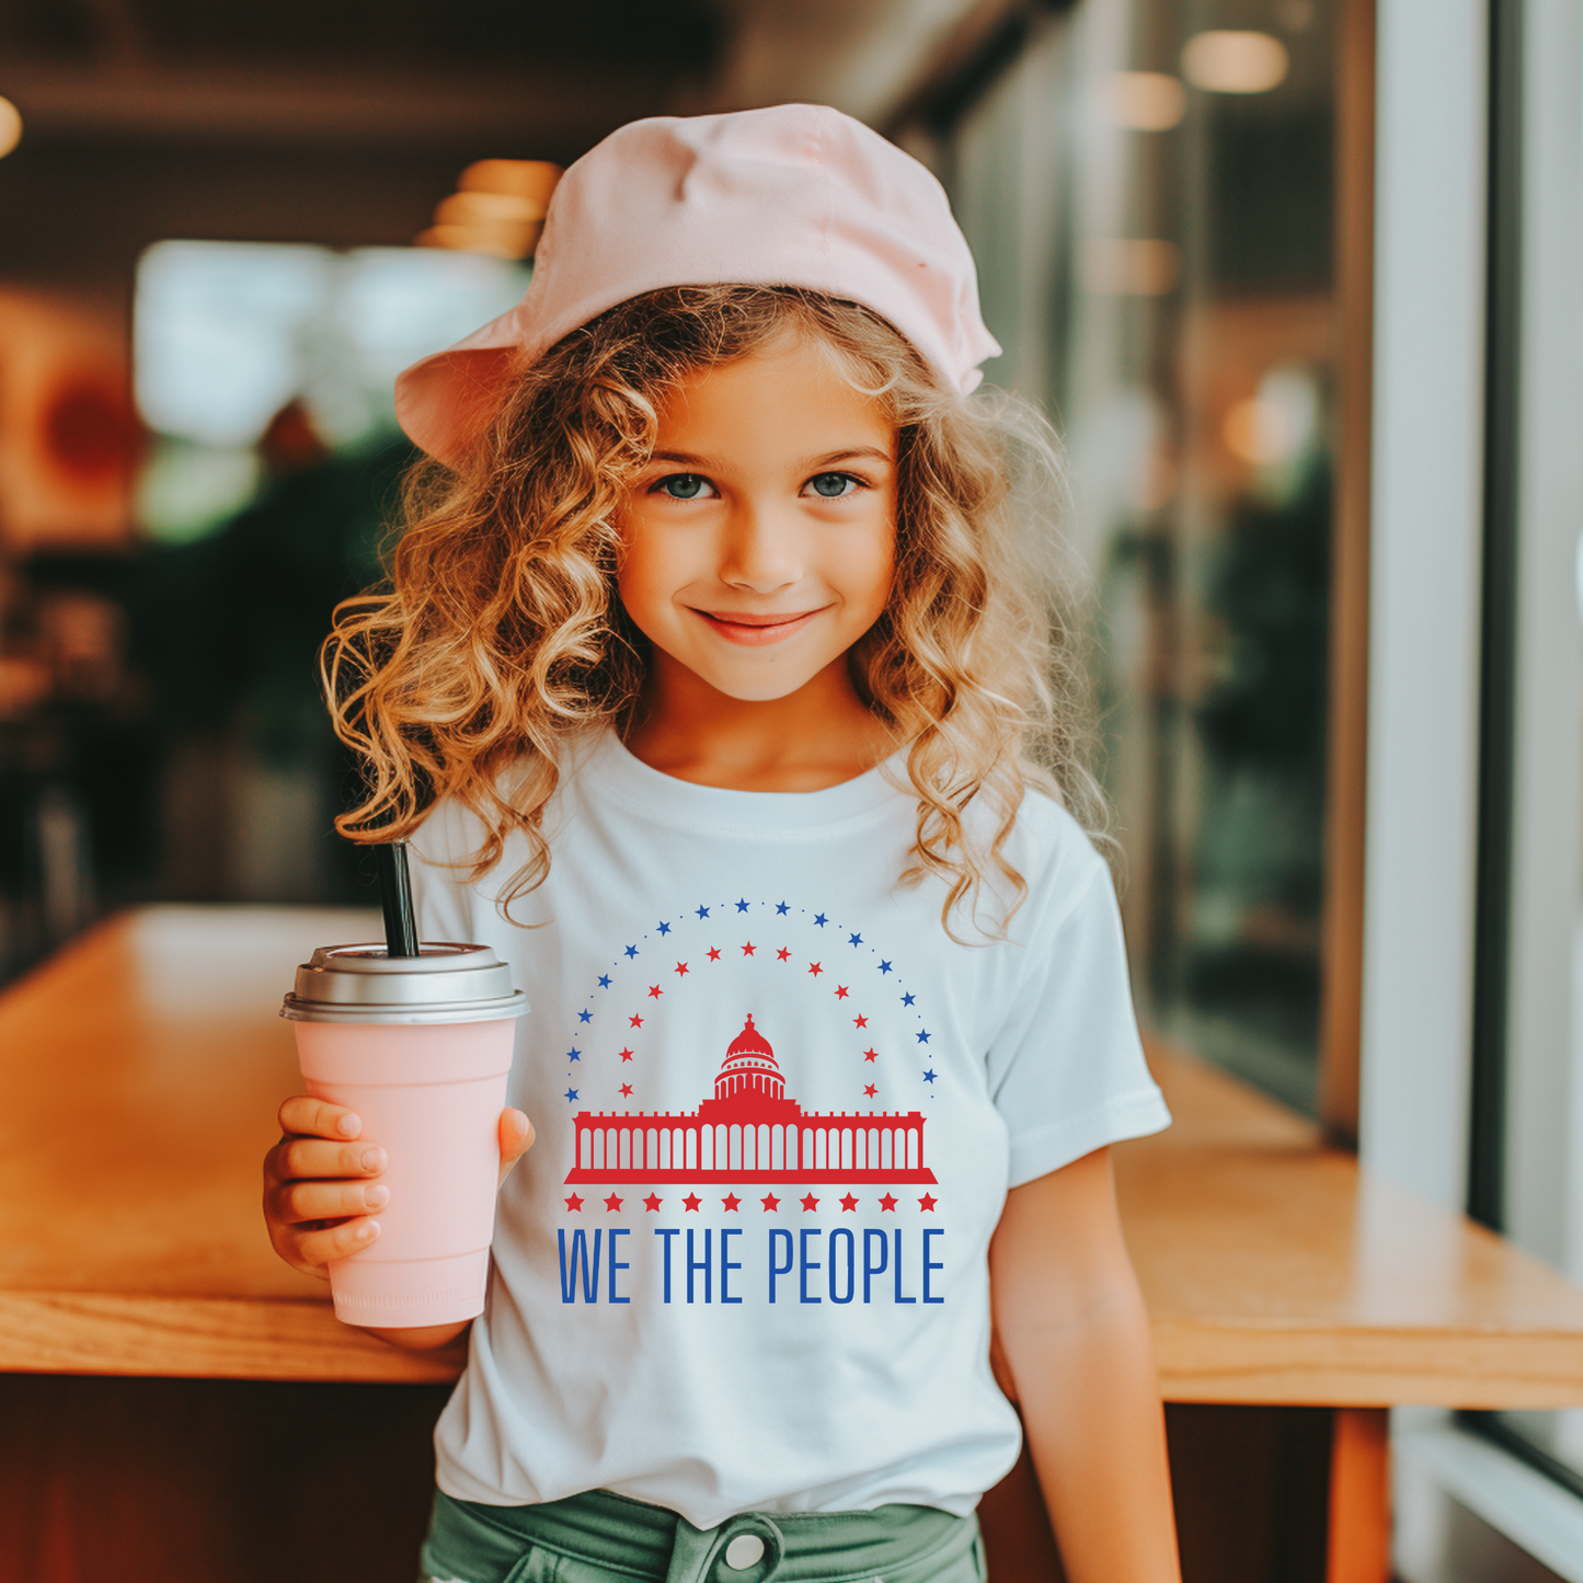
<svg viewBox="0 0 1583 1583">
<path fill-rule="evenodd" d="M 1083 0 L 936 160 L 1070 454 L 1140 1012 L 1314 1110 L 1336 8 L 1220 9 Z"/>
</svg>

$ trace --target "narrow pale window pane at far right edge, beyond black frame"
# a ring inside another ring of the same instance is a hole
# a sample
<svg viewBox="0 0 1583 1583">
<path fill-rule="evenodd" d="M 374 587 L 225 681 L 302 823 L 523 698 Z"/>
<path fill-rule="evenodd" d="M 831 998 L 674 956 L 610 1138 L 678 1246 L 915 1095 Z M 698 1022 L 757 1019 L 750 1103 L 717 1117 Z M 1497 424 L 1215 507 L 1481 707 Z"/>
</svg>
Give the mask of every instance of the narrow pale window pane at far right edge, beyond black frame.
<svg viewBox="0 0 1583 1583">
<path fill-rule="evenodd" d="M 1469 1211 L 1583 1281 L 1583 40 L 1493 16 Z M 1583 1410 L 1477 1425 L 1583 1494 Z"/>
</svg>

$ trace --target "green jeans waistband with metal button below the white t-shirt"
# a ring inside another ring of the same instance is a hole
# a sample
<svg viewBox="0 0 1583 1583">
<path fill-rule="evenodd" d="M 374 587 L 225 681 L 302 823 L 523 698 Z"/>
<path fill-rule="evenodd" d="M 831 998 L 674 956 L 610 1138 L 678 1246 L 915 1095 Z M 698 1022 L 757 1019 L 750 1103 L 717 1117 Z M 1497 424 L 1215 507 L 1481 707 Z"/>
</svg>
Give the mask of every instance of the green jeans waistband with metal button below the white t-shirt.
<svg viewBox="0 0 1583 1583">
<path fill-rule="evenodd" d="M 744 1512 L 698 1529 L 606 1490 L 543 1505 L 435 1494 L 421 1583 L 983 1583 L 975 1517 Z"/>
</svg>

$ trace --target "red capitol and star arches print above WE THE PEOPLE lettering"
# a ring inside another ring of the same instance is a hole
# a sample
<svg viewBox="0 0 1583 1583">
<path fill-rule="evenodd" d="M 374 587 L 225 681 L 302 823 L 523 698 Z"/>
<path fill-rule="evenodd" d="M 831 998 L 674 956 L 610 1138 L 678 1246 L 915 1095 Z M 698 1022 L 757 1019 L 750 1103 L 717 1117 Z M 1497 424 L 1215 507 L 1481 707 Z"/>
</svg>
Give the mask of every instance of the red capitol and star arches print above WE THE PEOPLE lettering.
<svg viewBox="0 0 1583 1583">
<path fill-rule="evenodd" d="M 760 1002 L 769 1002 L 768 1024 Z M 606 1103 L 570 1118 L 568 1187 L 837 1184 L 848 1192 L 831 1206 L 850 1214 L 860 1201 L 850 1189 L 879 1184 L 888 1190 L 875 1205 L 893 1214 L 898 1195 L 890 1189 L 937 1183 L 918 1108 L 937 1076 L 923 1007 L 894 961 L 825 912 L 784 899 L 700 901 L 622 942 L 576 1016 L 567 1056 L 583 1092 L 568 1083 L 565 1099 L 576 1103 L 592 1088 Z M 722 1034 L 730 1037 L 723 1062 Z M 617 1051 L 605 1050 L 617 1042 Z M 659 1061 L 671 1094 L 697 1069 L 697 1108 L 641 1108 L 644 1069 Z M 815 1080 L 825 1103 L 804 1108 L 803 1084 Z M 839 1103 L 845 1095 L 831 1092 L 833 1083 L 850 1083 L 864 1103 Z M 617 1097 L 633 1103 L 609 1103 Z M 915 1197 L 924 1214 L 939 1201 L 928 1192 Z M 621 1201 L 611 1195 L 606 1209 Z M 692 1213 L 701 1206 L 692 1194 L 681 1201 Z M 741 1201 L 731 1194 L 720 1200 L 725 1211 Z M 793 1201 L 804 1213 L 818 1205 L 812 1194 Z M 568 1211 L 583 1203 L 575 1190 L 567 1197 Z M 663 1200 L 651 1194 L 643 1203 L 657 1211 Z M 760 1203 L 773 1213 L 780 1198 L 766 1194 Z"/>
</svg>

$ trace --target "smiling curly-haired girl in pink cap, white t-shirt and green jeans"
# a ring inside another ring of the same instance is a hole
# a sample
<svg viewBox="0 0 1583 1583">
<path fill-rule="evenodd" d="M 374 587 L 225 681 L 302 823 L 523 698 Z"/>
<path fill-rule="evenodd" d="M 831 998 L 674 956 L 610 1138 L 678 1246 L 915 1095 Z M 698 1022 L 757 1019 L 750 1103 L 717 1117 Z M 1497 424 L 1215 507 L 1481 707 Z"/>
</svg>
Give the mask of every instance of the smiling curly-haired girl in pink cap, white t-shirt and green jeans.
<svg viewBox="0 0 1583 1583">
<path fill-rule="evenodd" d="M 997 350 L 934 179 L 779 106 L 614 133 L 521 306 L 399 386 L 438 464 L 328 646 L 344 828 L 511 962 L 503 1173 L 538 1135 L 429 1578 L 977 1580 L 1008 1396 L 1072 1583 L 1178 1577 L 1107 1157 L 1167 1114 Z M 280 1121 L 271 1235 L 323 1273 L 383 1156 Z"/>
</svg>

